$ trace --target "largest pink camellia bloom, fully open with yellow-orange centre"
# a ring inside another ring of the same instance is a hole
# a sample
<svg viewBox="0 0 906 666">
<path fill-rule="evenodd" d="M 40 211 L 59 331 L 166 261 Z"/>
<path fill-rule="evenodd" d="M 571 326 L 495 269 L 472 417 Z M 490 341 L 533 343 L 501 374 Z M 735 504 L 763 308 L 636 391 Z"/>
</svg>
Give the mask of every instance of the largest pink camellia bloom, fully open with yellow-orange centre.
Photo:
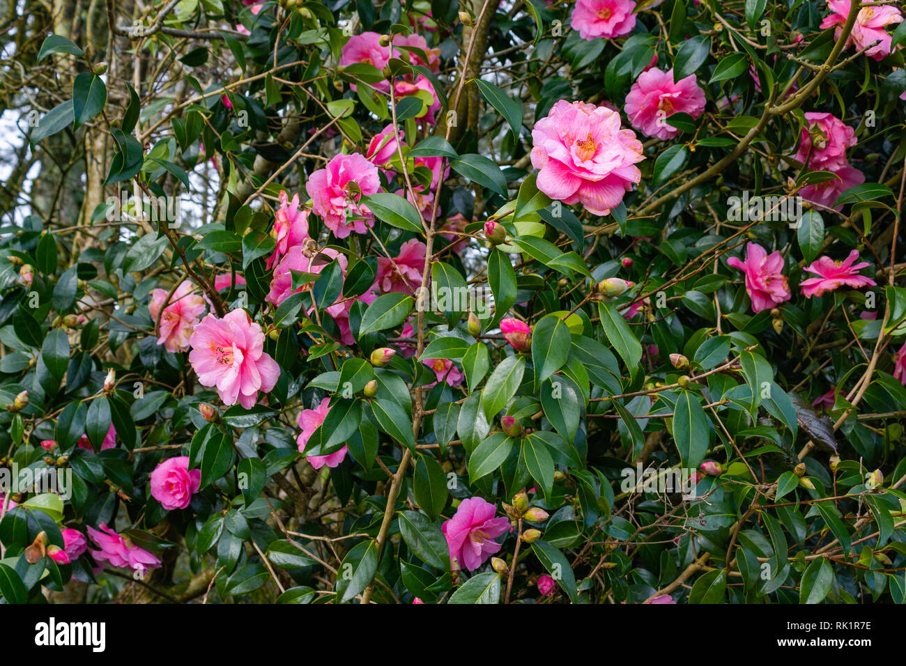
<svg viewBox="0 0 906 666">
<path fill-rule="evenodd" d="M 620 114 L 606 107 L 557 101 L 532 130 L 532 166 L 537 186 L 565 204 L 582 203 L 594 215 L 620 205 L 641 180 L 636 162 L 645 159 L 632 130 L 620 129 Z"/>
</svg>

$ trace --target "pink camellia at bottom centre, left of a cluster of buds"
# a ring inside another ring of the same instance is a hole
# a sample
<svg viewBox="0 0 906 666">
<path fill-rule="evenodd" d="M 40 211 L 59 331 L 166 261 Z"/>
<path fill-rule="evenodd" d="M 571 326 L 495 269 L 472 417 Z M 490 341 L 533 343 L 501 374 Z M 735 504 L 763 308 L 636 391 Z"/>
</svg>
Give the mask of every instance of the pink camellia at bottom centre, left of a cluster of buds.
<svg viewBox="0 0 906 666">
<path fill-rule="evenodd" d="M 474 571 L 500 550 L 494 537 L 509 528 L 509 518 L 495 518 L 496 506 L 481 497 L 464 499 L 456 514 L 440 526 L 447 537 L 450 558 Z"/>
</svg>

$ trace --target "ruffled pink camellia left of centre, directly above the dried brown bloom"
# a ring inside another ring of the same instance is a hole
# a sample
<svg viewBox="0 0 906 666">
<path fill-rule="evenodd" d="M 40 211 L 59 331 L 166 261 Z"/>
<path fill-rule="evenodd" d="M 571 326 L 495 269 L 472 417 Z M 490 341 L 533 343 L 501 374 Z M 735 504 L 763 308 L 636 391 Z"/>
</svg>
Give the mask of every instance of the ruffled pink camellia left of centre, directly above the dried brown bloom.
<svg viewBox="0 0 906 666">
<path fill-rule="evenodd" d="M 337 238 L 345 238 L 352 231 L 364 234 L 366 224 L 374 226 L 371 211 L 358 203 L 361 198 L 358 192 L 349 189 L 351 182 L 358 186 L 362 195 L 374 194 L 381 188 L 378 168 L 357 152 L 337 155 L 325 169 L 315 171 L 305 183 L 305 190 L 313 199 L 315 215 L 323 219 L 324 225 Z M 366 219 L 347 218 L 347 214 Z"/>
</svg>

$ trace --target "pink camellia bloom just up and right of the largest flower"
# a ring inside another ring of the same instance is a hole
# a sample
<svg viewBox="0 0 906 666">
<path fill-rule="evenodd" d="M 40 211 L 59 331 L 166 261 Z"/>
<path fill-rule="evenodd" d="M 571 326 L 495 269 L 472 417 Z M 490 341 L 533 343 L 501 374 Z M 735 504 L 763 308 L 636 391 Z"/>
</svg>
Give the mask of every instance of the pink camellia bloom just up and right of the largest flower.
<svg viewBox="0 0 906 666">
<path fill-rule="evenodd" d="M 699 88 L 695 74 L 673 80 L 673 70 L 651 68 L 641 72 L 632 84 L 623 107 L 630 124 L 647 137 L 672 139 L 679 130 L 667 124 L 674 113 L 689 113 L 698 118 L 705 111 L 705 92 Z"/>
</svg>

